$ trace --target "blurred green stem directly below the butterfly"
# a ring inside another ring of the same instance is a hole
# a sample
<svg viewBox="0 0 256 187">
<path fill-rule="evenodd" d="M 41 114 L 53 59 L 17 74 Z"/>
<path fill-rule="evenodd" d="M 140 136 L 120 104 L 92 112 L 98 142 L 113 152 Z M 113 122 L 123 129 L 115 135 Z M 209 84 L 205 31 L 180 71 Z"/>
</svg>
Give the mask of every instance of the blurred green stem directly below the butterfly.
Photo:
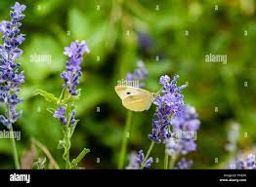
<svg viewBox="0 0 256 187">
<path fill-rule="evenodd" d="M 118 162 L 118 169 L 122 169 L 124 166 L 125 158 L 126 158 L 126 150 L 127 150 L 127 143 L 128 143 L 128 137 L 126 136 L 127 132 L 130 132 L 131 129 L 131 122 L 132 122 L 132 115 L 133 112 L 129 110 L 127 112 L 127 117 L 126 117 L 126 123 L 124 127 L 124 132 L 123 132 L 123 138 L 122 138 L 122 145 L 121 145 L 121 151 L 119 155 L 119 162 Z"/>
</svg>

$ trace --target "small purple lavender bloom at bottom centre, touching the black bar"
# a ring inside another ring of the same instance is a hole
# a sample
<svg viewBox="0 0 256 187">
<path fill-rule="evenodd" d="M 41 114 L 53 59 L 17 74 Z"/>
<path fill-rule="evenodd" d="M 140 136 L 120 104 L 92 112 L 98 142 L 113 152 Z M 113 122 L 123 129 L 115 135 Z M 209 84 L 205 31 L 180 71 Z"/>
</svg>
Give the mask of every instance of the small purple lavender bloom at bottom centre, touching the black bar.
<svg viewBox="0 0 256 187">
<path fill-rule="evenodd" d="M 141 168 L 144 159 L 145 159 L 145 155 L 143 153 L 143 150 L 140 150 L 139 154 L 133 152 L 133 153 L 131 153 L 130 158 L 129 158 L 129 160 L 130 160 L 129 166 L 126 168 L 139 169 L 139 168 Z M 145 164 L 145 168 L 149 168 L 151 166 L 152 162 L 153 162 L 152 158 L 149 157 L 149 159 L 147 160 L 147 162 Z"/>
</svg>

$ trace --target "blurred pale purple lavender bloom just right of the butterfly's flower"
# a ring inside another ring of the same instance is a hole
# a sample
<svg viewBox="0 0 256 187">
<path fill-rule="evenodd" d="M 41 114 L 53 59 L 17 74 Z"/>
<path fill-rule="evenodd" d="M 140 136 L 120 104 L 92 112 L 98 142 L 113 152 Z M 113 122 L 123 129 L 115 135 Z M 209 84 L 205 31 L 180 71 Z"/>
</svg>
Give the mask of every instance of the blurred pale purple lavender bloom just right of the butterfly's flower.
<svg viewBox="0 0 256 187">
<path fill-rule="evenodd" d="M 172 116 L 172 137 L 165 143 L 169 155 L 185 155 L 196 149 L 194 138 L 200 125 L 197 118 L 194 107 L 190 105 L 185 105 L 183 111 Z"/>
</svg>

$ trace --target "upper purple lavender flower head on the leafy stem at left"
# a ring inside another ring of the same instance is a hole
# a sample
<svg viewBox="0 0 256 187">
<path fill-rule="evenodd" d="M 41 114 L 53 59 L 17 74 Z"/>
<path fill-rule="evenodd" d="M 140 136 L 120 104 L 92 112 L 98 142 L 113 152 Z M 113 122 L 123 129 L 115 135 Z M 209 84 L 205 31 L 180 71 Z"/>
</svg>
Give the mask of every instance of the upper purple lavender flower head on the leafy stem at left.
<svg viewBox="0 0 256 187">
<path fill-rule="evenodd" d="M 72 42 L 70 47 L 64 48 L 64 55 L 69 57 L 66 62 L 66 70 L 62 73 L 64 79 L 64 88 L 68 90 L 71 95 L 77 95 L 76 86 L 79 83 L 81 76 L 80 63 L 83 60 L 83 54 L 90 53 L 85 41 L 79 43 L 78 41 Z"/>
</svg>

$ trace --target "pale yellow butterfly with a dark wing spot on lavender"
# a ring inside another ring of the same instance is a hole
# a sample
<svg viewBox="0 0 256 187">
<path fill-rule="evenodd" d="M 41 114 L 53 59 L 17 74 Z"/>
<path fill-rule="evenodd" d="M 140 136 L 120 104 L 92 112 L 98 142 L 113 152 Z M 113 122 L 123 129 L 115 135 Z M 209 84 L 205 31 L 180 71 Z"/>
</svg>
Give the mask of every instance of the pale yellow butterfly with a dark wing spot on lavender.
<svg viewBox="0 0 256 187">
<path fill-rule="evenodd" d="M 123 106 L 135 112 L 149 110 L 156 96 L 155 93 L 131 86 L 115 86 L 114 90 L 121 98 Z"/>
</svg>

